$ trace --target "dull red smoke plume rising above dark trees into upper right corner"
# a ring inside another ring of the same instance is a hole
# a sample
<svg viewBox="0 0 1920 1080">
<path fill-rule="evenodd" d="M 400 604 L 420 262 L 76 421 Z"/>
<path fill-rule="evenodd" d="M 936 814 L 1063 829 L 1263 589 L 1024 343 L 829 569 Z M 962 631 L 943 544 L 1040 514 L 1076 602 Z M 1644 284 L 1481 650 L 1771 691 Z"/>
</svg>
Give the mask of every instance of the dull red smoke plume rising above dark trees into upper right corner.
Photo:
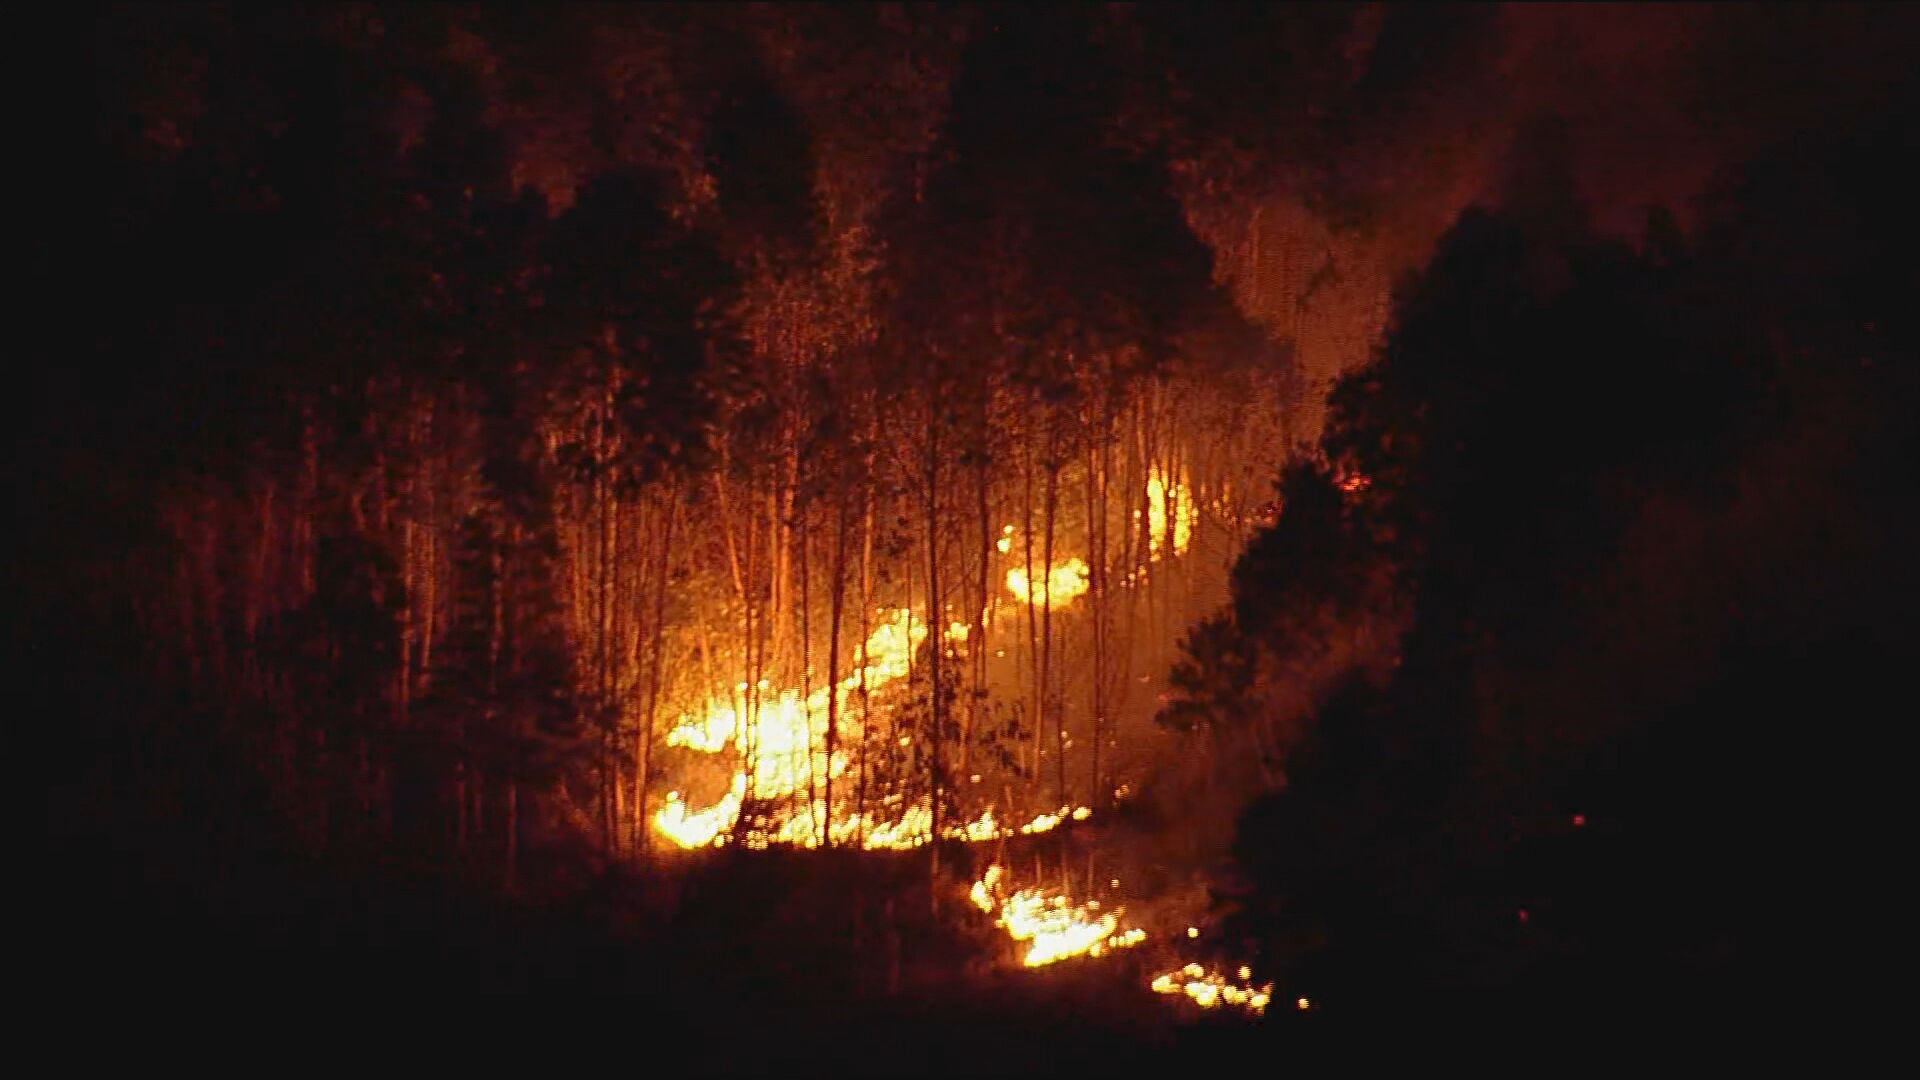
<svg viewBox="0 0 1920 1080">
<path fill-rule="evenodd" d="M 1169 142 L 1217 275 L 1327 388 L 1371 357 L 1392 286 L 1469 206 L 1567 184 L 1603 234 L 1642 240 L 1655 206 L 1693 229 L 1743 161 L 1897 92 L 1914 23 L 1897 6 L 1356 12 L 1319 42 L 1350 67 L 1317 98 L 1194 104 Z M 1250 142 L 1258 117 L 1288 138 Z M 1319 421 L 1309 400 L 1302 427 Z"/>
</svg>

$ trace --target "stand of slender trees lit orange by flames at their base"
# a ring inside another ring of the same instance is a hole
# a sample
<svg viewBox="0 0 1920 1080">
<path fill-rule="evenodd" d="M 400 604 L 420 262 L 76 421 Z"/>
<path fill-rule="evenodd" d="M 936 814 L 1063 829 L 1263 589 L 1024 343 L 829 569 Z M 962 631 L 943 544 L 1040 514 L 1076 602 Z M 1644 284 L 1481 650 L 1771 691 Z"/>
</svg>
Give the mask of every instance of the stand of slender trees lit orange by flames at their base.
<svg viewBox="0 0 1920 1080">
<path fill-rule="evenodd" d="M 710 131 L 666 161 L 693 190 L 622 161 L 553 206 L 445 46 L 300 29 L 290 60 L 205 75 L 209 110 L 230 79 L 286 111 L 269 171 L 207 142 L 129 183 L 253 202 L 136 219 L 177 231 L 131 242 L 163 259 L 242 250 L 179 284 L 204 309 L 161 294 L 211 354 L 157 388 L 184 429 L 161 438 L 204 457 L 152 479 L 121 557 L 154 586 L 127 611 L 144 663 L 307 844 L 470 853 L 515 886 L 555 836 L 897 846 L 1106 801 L 1140 640 L 1192 592 L 1148 571 L 1236 550 L 1271 494 L 1236 463 L 1279 454 L 1298 392 L 1256 382 L 1275 350 L 1162 173 L 1102 146 L 1112 88 L 972 60 L 950 110 L 845 135 L 874 156 L 849 177 L 772 73 L 708 54 L 735 31 L 697 25 Z M 874 48 L 960 65 L 914 37 L 937 21 L 891 31 Z M 419 131 L 348 129 L 390 94 L 355 65 L 405 81 Z M 1012 100 L 1048 102 L 1020 140 Z"/>
</svg>

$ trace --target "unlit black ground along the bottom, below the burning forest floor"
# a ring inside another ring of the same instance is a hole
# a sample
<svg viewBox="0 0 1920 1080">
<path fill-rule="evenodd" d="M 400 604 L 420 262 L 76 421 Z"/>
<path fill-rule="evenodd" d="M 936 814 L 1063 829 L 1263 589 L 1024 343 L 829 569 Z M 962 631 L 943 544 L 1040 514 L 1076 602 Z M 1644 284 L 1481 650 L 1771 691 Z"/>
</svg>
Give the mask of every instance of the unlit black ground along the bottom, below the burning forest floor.
<svg viewBox="0 0 1920 1080">
<path fill-rule="evenodd" d="M 1244 1074 L 1452 1059 L 1442 1047 L 1482 1040 L 1709 1045 L 1766 1030 L 1791 992 L 1703 934 L 1630 945 L 1630 965 L 1563 951 L 1505 982 L 1436 986 L 1409 963 L 1402 986 L 1306 1013 L 1277 1001 L 1254 1022 L 1144 992 L 1137 957 L 1010 967 L 983 919 L 933 913 L 918 857 L 714 857 L 509 901 L 444 872 L 146 844 L 56 849 L 71 899 L 50 924 L 48 986 L 113 1019 L 127 1042 L 109 1053 L 159 1059 L 259 1047 L 390 1065 L 612 1053 L 680 1074 Z"/>
</svg>

